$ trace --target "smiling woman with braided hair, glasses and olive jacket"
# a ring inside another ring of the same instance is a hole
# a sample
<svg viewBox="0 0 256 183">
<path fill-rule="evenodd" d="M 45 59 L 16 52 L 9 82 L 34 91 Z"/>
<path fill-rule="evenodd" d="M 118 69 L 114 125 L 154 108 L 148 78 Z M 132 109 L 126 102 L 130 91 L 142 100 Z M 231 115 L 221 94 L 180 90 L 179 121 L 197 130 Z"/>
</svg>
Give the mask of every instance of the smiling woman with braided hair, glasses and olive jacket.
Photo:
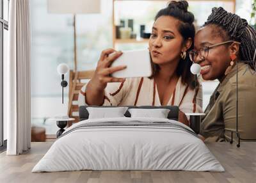
<svg viewBox="0 0 256 183">
<path fill-rule="evenodd" d="M 236 130 L 236 67 L 238 67 L 239 132 L 241 138 L 256 139 L 256 75 L 252 61 L 256 31 L 234 13 L 212 8 L 207 22 L 196 33 L 191 61 L 200 64 L 203 79 L 218 79 L 220 84 L 205 109 L 200 136 L 203 139 L 229 140 Z M 241 61 L 241 62 L 237 62 Z M 234 67 L 236 65 L 236 67 Z"/>
</svg>

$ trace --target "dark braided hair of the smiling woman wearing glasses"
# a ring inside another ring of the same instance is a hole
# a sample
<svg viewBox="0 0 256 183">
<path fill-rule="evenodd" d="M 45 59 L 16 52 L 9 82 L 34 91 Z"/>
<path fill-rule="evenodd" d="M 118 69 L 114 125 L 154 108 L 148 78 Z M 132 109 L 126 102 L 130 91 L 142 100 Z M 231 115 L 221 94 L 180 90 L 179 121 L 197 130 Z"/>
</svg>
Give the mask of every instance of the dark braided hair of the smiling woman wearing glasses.
<svg viewBox="0 0 256 183">
<path fill-rule="evenodd" d="M 212 13 L 209 15 L 204 26 L 207 25 L 220 26 L 225 33 L 221 30 L 216 31 L 219 31 L 224 41 L 228 39 L 241 43 L 239 49 L 241 61 L 253 60 L 256 49 L 256 30 L 245 19 L 241 19 L 241 17 L 234 13 L 228 13 L 222 7 L 212 8 Z M 253 70 L 256 70 L 255 63 L 249 63 L 249 65 Z"/>
</svg>

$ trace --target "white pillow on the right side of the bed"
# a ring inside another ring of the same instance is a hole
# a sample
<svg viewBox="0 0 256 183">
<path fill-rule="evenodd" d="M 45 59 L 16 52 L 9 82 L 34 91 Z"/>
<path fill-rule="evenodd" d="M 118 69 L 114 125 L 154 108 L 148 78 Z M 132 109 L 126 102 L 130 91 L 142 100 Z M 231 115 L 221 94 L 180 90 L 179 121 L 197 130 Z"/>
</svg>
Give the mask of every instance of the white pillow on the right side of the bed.
<svg viewBox="0 0 256 183">
<path fill-rule="evenodd" d="M 131 117 L 167 118 L 170 109 L 128 109 Z"/>
</svg>

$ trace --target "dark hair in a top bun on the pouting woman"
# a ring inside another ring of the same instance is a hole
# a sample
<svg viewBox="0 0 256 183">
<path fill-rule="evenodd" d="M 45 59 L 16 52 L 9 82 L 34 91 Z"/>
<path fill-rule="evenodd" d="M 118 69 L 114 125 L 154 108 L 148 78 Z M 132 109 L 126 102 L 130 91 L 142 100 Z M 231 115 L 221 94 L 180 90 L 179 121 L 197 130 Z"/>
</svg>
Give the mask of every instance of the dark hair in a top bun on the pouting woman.
<svg viewBox="0 0 256 183">
<path fill-rule="evenodd" d="M 161 16 L 171 16 L 179 21 L 179 33 L 182 35 L 184 42 L 188 40 L 188 38 L 192 39 L 191 47 L 186 51 L 185 60 L 180 60 L 179 65 L 177 67 L 177 75 L 182 77 L 182 83 L 187 83 L 190 88 L 195 88 L 195 77 L 190 72 L 190 67 L 192 62 L 189 60 L 188 52 L 193 49 L 194 38 L 195 38 L 195 26 L 193 24 L 195 17 L 193 13 L 188 12 L 188 2 L 187 1 L 170 1 L 166 8 L 159 10 L 155 17 L 155 21 Z M 156 63 L 152 62 L 153 67 L 153 76 L 159 72 L 160 67 Z"/>
</svg>

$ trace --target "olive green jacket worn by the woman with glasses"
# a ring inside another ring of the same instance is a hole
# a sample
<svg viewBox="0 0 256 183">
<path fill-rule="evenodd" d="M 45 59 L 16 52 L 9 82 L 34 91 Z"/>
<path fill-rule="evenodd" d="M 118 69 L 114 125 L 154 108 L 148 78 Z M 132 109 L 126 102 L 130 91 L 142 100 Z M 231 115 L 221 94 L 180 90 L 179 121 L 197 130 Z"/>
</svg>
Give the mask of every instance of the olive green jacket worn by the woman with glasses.
<svg viewBox="0 0 256 183">
<path fill-rule="evenodd" d="M 236 130 L 237 70 L 238 131 L 242 139 L 256 139 L 256 72 L 238 63 L 217 86 L 205 109 L 200 134 L 208 141 L 229 140 L 231 132 L 228 130 Z"/>
</svg>

